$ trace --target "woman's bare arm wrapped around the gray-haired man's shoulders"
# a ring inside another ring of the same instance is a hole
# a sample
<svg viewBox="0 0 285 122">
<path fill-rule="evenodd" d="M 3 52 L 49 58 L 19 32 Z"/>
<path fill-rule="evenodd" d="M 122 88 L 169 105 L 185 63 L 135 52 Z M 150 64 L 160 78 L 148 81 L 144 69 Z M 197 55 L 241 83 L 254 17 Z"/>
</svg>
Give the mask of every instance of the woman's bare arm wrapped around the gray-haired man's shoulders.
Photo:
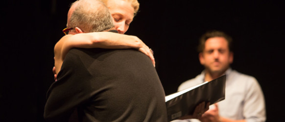
<svg viewBox="0 0 285 122">
<path fill-rule="evenodd" d="M 126 49 L 136 48 L 147 55 L 155 65 L 154 57 L 149 49 L 138 37 L 122 35 L 112 32 L 80 33 L 66 35 L 58 41 L 54 47 L 56 74 L 71 48 L 104 48 L 104 49 Z"/>
</svg>

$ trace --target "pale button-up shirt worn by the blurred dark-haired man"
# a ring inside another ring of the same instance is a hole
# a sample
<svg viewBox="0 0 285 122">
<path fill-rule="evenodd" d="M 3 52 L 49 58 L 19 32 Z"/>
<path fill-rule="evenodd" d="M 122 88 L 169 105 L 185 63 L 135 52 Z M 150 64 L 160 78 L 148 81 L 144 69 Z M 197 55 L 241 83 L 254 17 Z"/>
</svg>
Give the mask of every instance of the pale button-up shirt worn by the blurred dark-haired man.
<svg viewBox="0 0 285 122">
<path fill-rule="evenodd" d="M 218 102 L 219 115 L 232 120 L 265 122 L 266 111 L 264 96 L 258 81 L 229 68 L 226 71 L 225 100 Z M 204 82 L 203 71 L 196 78 L 183 82 L 178 91 Z M 213 105 L 210 106 L 213 107 Z M 198 120 L 191 119 L 191 122 Z M 189 120 L 185 120 L 189 122 Z M 199 121 L 198 121 L 199 122 Z"/>
</svg>

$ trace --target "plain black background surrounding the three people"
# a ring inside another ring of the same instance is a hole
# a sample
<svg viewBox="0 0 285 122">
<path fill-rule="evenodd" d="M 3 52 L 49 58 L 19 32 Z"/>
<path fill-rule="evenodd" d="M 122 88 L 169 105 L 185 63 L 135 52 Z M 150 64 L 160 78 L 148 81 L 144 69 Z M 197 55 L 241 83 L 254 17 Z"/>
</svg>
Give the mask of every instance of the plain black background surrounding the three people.
<svg viewBox="0 0 285 122">
<path fill-rule="evenodd" d="M 64 36 L 73 1 L 1 1 L 0 122 L 44 122 L 53 46 Z M 154 50 L 166 95 L 203 70 L 196 52 L 199 37 L 221 30 L 235 41 L 232 68 L 260 82 L 267 122 L 284 121 L 284 1 L 139 1 L 140 12 L 126 34 Z"/>
</svg>

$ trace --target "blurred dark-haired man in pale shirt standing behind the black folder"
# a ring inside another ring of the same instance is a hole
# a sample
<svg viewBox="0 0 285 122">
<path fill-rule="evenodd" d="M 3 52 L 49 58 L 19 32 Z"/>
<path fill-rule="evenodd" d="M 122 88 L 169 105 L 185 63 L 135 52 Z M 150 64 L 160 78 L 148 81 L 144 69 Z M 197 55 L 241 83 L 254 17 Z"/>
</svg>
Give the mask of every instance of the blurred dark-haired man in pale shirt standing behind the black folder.
<svg viewBox="0 0 285 122">
<path fill-rule="evenodd" d="M 211 105 L 199 120 L 265 122 L 265 103 L 261 87 L 254 77 L 231 69 L 230 64 L 234 59 L 231 44 L 232 38 L 223 32 L 211 31 L 204 34 L 198 51 L 200 63 L 205 70 L 196 78 L 183 82 L 178 91 L 226 74 L 225 100 Z"/>
</svg>

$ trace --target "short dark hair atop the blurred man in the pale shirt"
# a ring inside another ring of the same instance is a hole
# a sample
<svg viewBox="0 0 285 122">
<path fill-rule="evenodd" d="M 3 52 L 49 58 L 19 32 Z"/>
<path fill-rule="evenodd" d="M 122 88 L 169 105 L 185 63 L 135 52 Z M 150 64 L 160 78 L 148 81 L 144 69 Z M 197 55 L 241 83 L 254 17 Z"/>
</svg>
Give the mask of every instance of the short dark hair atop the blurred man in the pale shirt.
<svg viewBox="0 0 285 122">
<path fill-rule="evenodd" d="M 205 34 L 203 34 L 199 40 L 199 45 L 198 45 L 198 52 L 201 53 L 203 52 L 203 50 L 205 49 L 205 42 L 209 39 L 209 38 L 214 38 L 214 37 L 223 37 L 226 39 L 226 41 L 228 41 L 228 47 L 230 52 L 233 51 L 233 47 L 232 47 L 232 43 L 233 43 L 233 39 L 231 36 L 227 35 L 226 33 L 222 32 L 222 31 L 217 31 L 217 30 L 211 30 L 211 31 L 207 31 Z"/>
</svg>

